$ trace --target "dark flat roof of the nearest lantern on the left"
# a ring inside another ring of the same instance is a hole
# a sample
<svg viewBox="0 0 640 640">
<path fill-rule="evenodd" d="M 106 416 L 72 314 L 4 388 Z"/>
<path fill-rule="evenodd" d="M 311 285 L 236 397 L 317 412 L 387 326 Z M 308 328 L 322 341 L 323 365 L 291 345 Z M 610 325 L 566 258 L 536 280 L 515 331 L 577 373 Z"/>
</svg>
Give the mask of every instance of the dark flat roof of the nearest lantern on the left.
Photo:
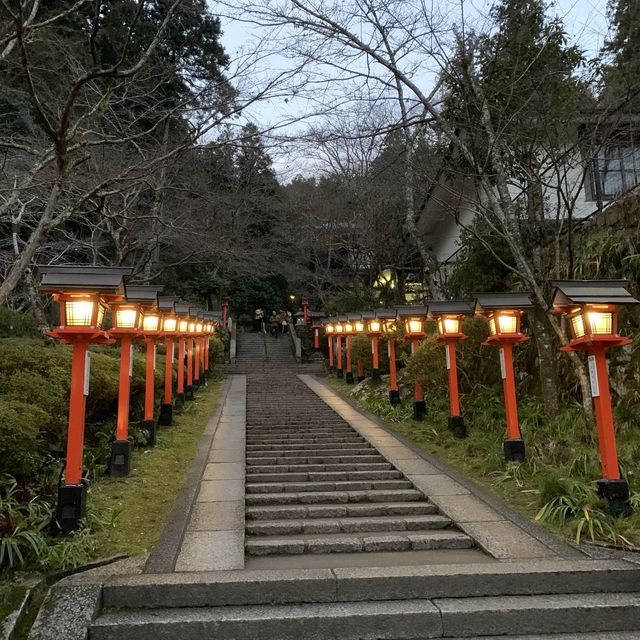
<svg viewBox="0 0 640 640">
<path fill-rule="evenodd" d="M 124 278 L 130 267 L 94 267 L 59 264 L 38 267 L 40 288 L 48 293 L 92 290 L 99 293 L 124 295 Z"/>
</svg>

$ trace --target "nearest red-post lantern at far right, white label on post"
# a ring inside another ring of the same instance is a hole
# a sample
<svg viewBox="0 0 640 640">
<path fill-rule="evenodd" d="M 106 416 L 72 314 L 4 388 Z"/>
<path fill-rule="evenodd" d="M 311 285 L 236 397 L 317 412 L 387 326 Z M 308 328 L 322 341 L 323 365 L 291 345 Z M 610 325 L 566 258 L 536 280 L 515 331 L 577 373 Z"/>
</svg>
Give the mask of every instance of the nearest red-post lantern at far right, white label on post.
<svg viewBox="0 0 640 640">
<path fill-rule="evenodd" d="M 563 351 L 585 351 L 598 427 L 602 479 L 598 494 L 611 512 L 631 512 L 629 485 L 620 475 L 606 350 L 631 344 L 618 334 L 618 305 L 639 304 L 626 280 L 554 280 L 551 306 L 568 319 L 570 341 Z"/>
</svg>

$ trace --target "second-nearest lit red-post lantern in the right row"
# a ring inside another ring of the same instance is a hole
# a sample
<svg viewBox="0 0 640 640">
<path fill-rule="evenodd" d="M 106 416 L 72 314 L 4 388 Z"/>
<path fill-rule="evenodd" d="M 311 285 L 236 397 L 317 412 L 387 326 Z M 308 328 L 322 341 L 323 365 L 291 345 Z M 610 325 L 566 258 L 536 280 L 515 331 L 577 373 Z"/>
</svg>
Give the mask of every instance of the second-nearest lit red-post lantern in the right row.
<svg viewBox="0 0 640 640">
<path fill-rule="evenodd" d="M 504 456 L 507 461 L 524 462 L 525 445 L 518 423 L 513 345 L 529 339 L 521 333 L 520 320 L 533 303 L 528 293 L 477 293 L 473 306 L 475 315 L 486 318 L 489 324 L 489 337 L 482 344 L 499 348 L 507 422 Z"/>
</svg>

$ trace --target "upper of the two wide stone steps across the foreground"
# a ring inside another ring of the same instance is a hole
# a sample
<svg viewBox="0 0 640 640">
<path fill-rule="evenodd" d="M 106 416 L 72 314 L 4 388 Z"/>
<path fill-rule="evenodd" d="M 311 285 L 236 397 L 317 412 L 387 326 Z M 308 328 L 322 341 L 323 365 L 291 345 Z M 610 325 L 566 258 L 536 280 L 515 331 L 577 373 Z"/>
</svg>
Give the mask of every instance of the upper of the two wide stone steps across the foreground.
<svg viewBox="0 0 640 640">
<path fill-rule="evenodd" d="M 480 595 L 625 594 L 636 592 L 639 584 L 640 566 L 635 563 L 560 558 L 378 568 L 142 573 L 110 578 L 103 587 L 103 606 L 162 609 L 314 602 L 345 605 L 363 600 L 413 598 L 475 601 Z M 306 637 L 303 634 L 299 640 Z"/>
</svg>

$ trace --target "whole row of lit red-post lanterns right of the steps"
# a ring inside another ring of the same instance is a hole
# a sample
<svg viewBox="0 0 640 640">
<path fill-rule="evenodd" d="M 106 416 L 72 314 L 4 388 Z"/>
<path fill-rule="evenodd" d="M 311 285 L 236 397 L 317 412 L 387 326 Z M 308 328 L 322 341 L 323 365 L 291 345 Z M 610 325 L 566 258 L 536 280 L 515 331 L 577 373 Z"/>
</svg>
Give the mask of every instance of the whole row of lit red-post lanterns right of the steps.
<svg viewBox="0 0 640 640">
<path fill-rule="evenodd" d="M 562 314 L 568 320 L 570 341 L 562 350 L 587 353 L 602 465 L 602 480 L 598 482 L 598 492 L 609 502 L 612 511 L 619 515 L 629 509 L 629 487 L 621 477 L 618 464 L 605 351 L 611 346 L 631 343 L 631 340 L 618 334 L 617 309 L 618 305 L 637 304 L 639 301 L 631 295 L 625 280 L 556 280 L 551 282 L 551 286 L 553 296 L 550 311 Z M 467 432 L 460 411 L 456 344 L 467 338 L 462 333 L 465 317 L 485 318 L 489 337 L 483 345 L 499 349 L 506 416 L 504 455 L 508 461 L 521 462 L 525 460 L 525 443 L 518 421 L 513 346 L 529 340 L 521 331 L 521 318 L 533 306 L 527 293 L 482 293 L 476 294 L 471 302 L 434 300 L 428 301 L 425 306 L 379 309 L 333 318 L 314 317 L 312 328 L 316 338 L 320 327 L 324 328 L 328 338 L 330 370 L 349 383 L 354 382 L 351 338 L 354 335 L 367 335 L 371 338 L 372 379 L 377 381 L 380 379 L 379 340 L 386 334 L 389 349 L 389 401 L 397 405 L 400 403 L 400 395 L 393 339 L 397 323 L 404 324 L 405 339 L 411 343 L 413 352 L 426 336 L 426 321 L 435 321 L 436 340 L 445 347 L 449 381 L 449 428 L 455 436 L 462 438 Z M 343 362 L 343 346 L 346 362 Z M 317 339 L 315 347 L 316 350 L 319 348 Z M 358 378 L 364 379 L 361 365 Z M 424 391 L 422 385 L 415 382 L 414 418 L 422 420 L 424 416 Z"/>
</svg>

